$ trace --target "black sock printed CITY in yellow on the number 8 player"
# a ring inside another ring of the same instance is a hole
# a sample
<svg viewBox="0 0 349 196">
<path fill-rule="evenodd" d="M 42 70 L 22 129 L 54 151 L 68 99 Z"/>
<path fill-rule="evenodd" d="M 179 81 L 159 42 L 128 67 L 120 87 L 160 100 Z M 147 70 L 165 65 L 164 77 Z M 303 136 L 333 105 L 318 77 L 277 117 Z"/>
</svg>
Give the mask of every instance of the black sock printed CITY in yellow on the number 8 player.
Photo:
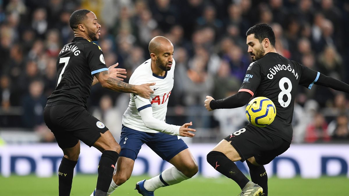
<svg viewBox="0 0 349 196">
<path fill-rule="evenodd" d="M 248 168 L 250 168 L 250 176 L 253 183 L 263 188 L 264 196 L 268 196 L 268 175 L 263 165 L 255 166 L 246 160 Z"/>
</svg>

